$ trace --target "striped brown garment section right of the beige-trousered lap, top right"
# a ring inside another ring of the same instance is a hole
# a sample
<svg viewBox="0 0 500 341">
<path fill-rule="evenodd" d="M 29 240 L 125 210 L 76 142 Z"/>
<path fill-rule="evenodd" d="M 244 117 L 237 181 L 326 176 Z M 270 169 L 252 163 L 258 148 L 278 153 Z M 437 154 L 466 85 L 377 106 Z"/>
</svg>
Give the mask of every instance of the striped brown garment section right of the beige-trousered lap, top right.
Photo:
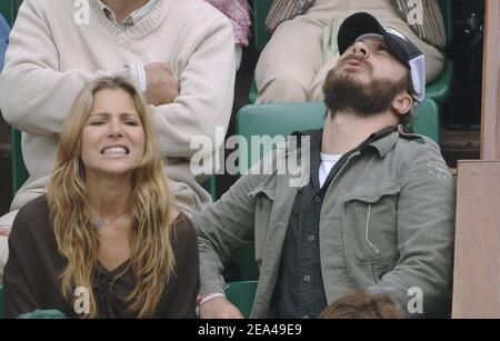
<svg viewBox="0 0 500 341">
<path fill-rule="evenodd" d="M 443 49 L 444 23 L 438 0 L 397 0 L 401 19 L 427 43 Z"/>
</svg>

